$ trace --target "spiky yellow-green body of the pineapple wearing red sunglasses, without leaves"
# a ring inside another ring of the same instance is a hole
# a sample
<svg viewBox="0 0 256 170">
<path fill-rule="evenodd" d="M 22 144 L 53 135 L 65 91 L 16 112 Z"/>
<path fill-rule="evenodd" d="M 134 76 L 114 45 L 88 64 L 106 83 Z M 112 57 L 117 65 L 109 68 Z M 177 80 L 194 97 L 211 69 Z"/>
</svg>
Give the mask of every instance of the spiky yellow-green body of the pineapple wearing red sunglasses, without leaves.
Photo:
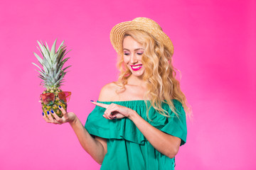
<svg viewBox="0 0 256 170">
<path fill-rule="evenodd" d="M 63 113 L 60 111 L 58 106 L 61 106 L 62 108 L 64 108 L 65 111 L 67 111 L 67 106 L 68 106 L 67 103 L 60 101 L 60 98 L 58 98 L 58 93 L 60 93 L 61 91 L 62 90 L 59 89 L 58 87 L 53 87 L 53 88 L 46 89 L 45 91 L 43 91 L 43 94 L 53 93 L 55 96 L 55 101 L 54 101 L 53 105 L 51 105 L 51 106 L 47 106 L 45 103 L 43 103 L 43 101 L 41 101 L 43 113 L 45 113 L 47 118 L 48 118 L 47 111 L 50 112 L 51 110 L 53 110 L 56 113 L 56 115 L 58 115 L 58 117 L 60 117 L 60 118 L 63 117 Z M 54 116 L 51 112 L 50 112 L 50 115 L 54 118 Z"/>
</svg>

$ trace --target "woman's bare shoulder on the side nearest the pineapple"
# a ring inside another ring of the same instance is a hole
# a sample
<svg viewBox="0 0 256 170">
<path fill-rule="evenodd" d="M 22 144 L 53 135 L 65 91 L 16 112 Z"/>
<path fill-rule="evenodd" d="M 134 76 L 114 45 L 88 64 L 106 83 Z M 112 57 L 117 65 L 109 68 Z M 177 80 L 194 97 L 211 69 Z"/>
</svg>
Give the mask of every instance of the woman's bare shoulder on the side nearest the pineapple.
<svg viewBox="0 0 256 170">
<path fill-rule="evenodd" d="M 117 101 L 117 91 L 121 88 L 117 82 L 111 82 L 102 87 L 98 101 Z"/>
</svg>

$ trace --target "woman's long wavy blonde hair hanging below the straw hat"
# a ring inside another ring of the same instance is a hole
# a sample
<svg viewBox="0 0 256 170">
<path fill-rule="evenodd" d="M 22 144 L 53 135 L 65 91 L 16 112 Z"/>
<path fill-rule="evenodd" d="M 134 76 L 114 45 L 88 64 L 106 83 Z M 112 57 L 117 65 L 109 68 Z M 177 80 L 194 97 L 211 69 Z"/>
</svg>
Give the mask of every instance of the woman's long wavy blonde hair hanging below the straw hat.
<svg viewBox="0 0 256 170">
<path fill-rule="evenodd" d="M 186 101 L 186 96 L 181 91 L 179 81 L 176 79 L 176 69 L 172 64 L 171 52 L 159 40 L 143 30 L 128 30 L 124 34 L 123 40 L 126 36 L 131 36 L 144 47 L 142 64 L 145 67 L 145 72 L 143 79 L 148 89 L 145 98 L 150 98 L 150 106 L 145 100 L 147 106 L 146 115 L 149 115 L 149 108 L 153 107 L 161 115 L 170 117 L 169 113 L 161 107 L 161 103 L 167 103 L 171 111 L 178 116 L 178 111 L 175 109 L 173 101 L 171 101 L 171 99 L 176 99 L 182 103 L 185 112 L 191 117 L 190 106 Z M 120 49 L 118 53 L 122 55 L 119 56 L 119 61 L 117 62 L 117 67 L 120 71 L 117 82 L 122 84 L 121 89 L 125 89 L 124 86 L 127 84 L 132 72 L 124 64 L 123 49 Z"/>
</svg>

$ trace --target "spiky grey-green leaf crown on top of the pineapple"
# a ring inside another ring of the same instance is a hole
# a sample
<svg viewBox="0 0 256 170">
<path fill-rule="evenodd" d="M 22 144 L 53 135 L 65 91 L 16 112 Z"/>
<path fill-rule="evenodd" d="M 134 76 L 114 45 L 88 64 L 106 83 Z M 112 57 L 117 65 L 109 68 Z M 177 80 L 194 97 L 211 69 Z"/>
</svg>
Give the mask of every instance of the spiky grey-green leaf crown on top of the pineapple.
<svg viewBox="0 0 256 170">
<path fill-rule="evenodd" d="M 61 42 L 57 52 L 55 52 L 57 39 L 55 40 L 55 42 L 53 42 L 53 46 L 51 47 L 51 50 L 49 49 L 47 42 L 46 42 L 46 45 L 44 45 L 42 41 L 41 43 L 39 41 L 37 42 L 40 47 L 40 48 L 38 47 L 37 48 L 43 55 L 43 59 L 39 57 L 39 55 L 37 55 L 36 52 L 34 52 L 34 55 L 38 59 L 38 62 L 43 66 L 43 69 L 41 69 L 41 67 L 39 67 L 37 64 L 33 62 L 32 64 L 36 65 L 36 67 L 39 68 L 39 70 L 36 70 L 36 71 L 40 73 L 38 77 L 43 79 L 43 81 L 41 81 L 41 84 L 43 84 L 43 86 L 46 89 L 51 89 L 53 87 L 60 87 L 61 85 L 63 85 L 63 82 L 64 82 L 63 78 L 67 73 L 65 72 L 65 69 L 68 69 L 68 67 L 71 67 L 71 66 L 68 66 L 62 69 L 65 62 L 67 62 L 68 59 L 70 58 L 68 57 L 64 59 L 65 55 L 69 52 L 69 51 L 66 52 L 66 49 L 65 49 L 66 46 L 64 45 L 64 41 Z"/>
</svg>

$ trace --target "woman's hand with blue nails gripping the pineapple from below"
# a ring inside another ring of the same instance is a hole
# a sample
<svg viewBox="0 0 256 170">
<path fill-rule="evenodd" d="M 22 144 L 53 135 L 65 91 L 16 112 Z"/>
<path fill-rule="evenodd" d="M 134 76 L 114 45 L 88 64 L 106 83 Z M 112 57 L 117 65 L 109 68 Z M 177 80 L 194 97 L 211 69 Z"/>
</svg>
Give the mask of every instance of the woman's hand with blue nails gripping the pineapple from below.
<svg viewBox="0 0 256 170">
<path fill-rule="evenodd" d="M 76 115 L 73 112 L 66 112 L 64 108 L 60 108 L 60 111 L 63 113 L 63 117 L 60 118 L 54 111 L 48 111 L 48 115 L 43 114 L 43 119 L 46 120 L 47 123 L 54 123 L 54 124 L 63 124 L 63 123 L 73 123 L 75 122 Z M 54 116 L 54 118 L 50 115 L 50 113 Z"/>
</svg>

